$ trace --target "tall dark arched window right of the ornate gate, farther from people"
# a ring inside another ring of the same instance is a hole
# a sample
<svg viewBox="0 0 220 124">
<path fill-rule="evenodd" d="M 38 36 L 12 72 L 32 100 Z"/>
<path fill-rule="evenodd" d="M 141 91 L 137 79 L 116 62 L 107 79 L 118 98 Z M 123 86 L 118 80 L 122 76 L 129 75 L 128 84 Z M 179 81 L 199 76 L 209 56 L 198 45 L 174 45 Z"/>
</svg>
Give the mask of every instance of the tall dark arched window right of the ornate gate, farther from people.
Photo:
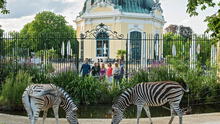
<svg viewBox="0 0 220 124">
<path fill-rule="evenodd" d="M 141 60 L 141 32 L 130 33 L 130 59 L 132 61 Z"/>
</svg>

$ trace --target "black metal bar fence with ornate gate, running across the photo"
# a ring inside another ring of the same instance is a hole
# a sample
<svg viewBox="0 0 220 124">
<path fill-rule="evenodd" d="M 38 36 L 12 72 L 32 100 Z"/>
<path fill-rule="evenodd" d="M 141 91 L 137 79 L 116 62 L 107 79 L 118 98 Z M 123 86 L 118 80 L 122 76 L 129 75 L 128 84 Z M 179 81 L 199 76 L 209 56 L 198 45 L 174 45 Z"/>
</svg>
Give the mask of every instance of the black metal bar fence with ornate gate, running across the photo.
<svg viewBox="0 0 220 124">
<path fill-rule="evenodd" d="M 24 37 L 18 33 L 4 34 L 0 37 L 0 66 L 2 68 L 9 63 L 14 68 L 36 66 L 43 72 L 59 73 L 68 70 L 78 72 L 85 58 L 89 58 L 90 64 L 121 60 L 125 75 L 128 76 L 140 69 L 169 66 L 173 60 L 182 61 L 191 69 L 198 65 L 207 69 L 217 61 L 217 48 L 211 38 L 205 35 L 186 38 L 174 34 L 131 32 L 127 37 L 119 36 L 111 38 L 105 31 L 100 35 L 95 34 L 93 38 L 86 35 L 76 38 L 73 34 L 64 33 L 39 34 L 35 37 Z M 86 49 L 86 43 L 89 43 L 91 49 Z M 120 48 L 114 49 L 116 46 L 111 46 L 111 43 L 120 44 Z M 125 51 L 124 57 L 123 54 L 116 57 L 118 50 Z M 110 51 L 114 51 L 114 55 Z M 95 56 L 86 57 L 86 52 L 94 53 Z"/>
</svg>

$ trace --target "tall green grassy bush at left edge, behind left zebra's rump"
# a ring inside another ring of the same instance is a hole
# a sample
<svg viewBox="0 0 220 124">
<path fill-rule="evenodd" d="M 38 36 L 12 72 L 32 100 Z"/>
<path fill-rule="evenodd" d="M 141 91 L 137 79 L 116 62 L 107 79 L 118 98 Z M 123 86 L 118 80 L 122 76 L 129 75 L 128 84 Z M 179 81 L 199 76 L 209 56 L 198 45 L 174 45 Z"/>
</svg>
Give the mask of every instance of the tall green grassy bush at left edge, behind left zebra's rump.
<svg viewBox="0 0 220 124">
<path fill-rule="evenodd" d="M 25 71 L 11 73 L 5 80 L 1 94 L 1 104 L 21 107 L 21 96 L 25 88 L 32 83 L 32 77 Z"/>
</svg>

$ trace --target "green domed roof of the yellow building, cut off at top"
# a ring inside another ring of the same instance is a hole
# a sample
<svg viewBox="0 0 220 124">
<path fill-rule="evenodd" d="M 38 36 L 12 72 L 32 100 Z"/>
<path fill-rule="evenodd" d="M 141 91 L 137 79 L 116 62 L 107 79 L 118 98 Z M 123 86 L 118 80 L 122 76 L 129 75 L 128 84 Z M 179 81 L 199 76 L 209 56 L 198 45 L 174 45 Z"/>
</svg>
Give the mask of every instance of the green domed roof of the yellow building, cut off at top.
<svg viewBox="0 0 220 124">
<path fill-rule="evenodd" d="M 131 13 L 150 13 L 155 3 L 153 0 L 86 0 L 81 14 L 99 2 L 111 3 L 120 11 Z"/>
</svg>

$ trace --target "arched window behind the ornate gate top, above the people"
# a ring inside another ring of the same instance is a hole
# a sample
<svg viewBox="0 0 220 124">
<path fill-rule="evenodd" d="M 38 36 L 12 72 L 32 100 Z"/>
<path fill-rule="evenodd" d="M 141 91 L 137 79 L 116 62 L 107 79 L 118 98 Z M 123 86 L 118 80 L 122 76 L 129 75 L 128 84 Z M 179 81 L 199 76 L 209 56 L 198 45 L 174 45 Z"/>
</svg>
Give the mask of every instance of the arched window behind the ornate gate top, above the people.
<svg viewBox="0 0 220 124">
<path fill-rule="evenodd" d="M 96 36 L 96 57 L 109 56 L 109 36 L 106 32 L 100 32 Z"/>
</svg>

